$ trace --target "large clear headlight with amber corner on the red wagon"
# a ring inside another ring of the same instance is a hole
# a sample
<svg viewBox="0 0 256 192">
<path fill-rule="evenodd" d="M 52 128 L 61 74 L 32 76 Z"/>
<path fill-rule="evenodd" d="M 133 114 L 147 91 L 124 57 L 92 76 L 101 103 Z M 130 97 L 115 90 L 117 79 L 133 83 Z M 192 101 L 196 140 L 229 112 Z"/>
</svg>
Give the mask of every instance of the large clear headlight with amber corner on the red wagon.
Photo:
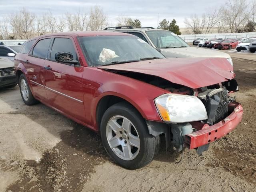
<svg viewBox="0 0 256 192">
<path fill-rule="evenodd" d="M 195 96 L 164 94 L 155 99 L 162 120 L 183 123 L 207 119 L 204 104 Z"/>
</svg>

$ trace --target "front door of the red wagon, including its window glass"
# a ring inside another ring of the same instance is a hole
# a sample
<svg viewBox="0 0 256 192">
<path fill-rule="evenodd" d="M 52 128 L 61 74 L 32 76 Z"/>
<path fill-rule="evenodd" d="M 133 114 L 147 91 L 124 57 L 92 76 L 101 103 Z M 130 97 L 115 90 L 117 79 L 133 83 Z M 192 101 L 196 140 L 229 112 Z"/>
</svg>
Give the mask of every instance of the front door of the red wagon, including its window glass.
<svg viewBox="0 0 256 192">
<path fill-rule="evenodd" d="M 52 106 L 84 122 L 83 71 L 84 67 L 57 62 L 55 54 L 69 52 L 78 60 L 74 40 L 69 36 L 58 36 L 52 42 L 48 59 L 45 61 L 45 83 L 48 101 Z"/>
</svg>

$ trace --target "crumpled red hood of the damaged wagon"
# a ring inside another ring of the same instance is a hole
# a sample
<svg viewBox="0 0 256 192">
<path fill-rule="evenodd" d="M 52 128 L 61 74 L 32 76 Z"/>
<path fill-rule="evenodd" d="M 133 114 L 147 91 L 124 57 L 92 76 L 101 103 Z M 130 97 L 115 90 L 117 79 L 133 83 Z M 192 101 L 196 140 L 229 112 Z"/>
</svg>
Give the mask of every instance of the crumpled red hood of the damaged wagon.
<svg viewBox="0 0 256 192">
<path fill-rule="evenodd" d="M 233 66 L 226 58 L 157 59 L 98 68 L 154 75 L 190 88 L 209 86 L 235 77 Z"/>
</svg>

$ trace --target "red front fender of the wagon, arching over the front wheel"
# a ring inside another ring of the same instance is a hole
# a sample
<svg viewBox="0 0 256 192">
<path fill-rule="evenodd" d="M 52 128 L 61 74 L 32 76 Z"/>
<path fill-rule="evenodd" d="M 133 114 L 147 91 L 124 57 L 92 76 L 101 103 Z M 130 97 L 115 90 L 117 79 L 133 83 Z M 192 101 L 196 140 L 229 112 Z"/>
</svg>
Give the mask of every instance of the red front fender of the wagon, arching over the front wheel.
<svg viewBox="0 0 256 192">
<path fill-rule="evenodd" d="M 90 105 L 85 106 L 90 120 L 95 120 L 97 105 L 104 96 L 117 96 L 132 104 L 146 120 L 162 121 L 154 99 L 167 93 L 167 90 L 97 68 L 86 68 L 84 74 L 87 78 L 86 85 L 90 85 L 91 93 L 94 92 L 93 95 L 84 96 L 85 104 L 90 102 Z M 97 82 L 93 81 L 96 77 Z"/>
</svg>

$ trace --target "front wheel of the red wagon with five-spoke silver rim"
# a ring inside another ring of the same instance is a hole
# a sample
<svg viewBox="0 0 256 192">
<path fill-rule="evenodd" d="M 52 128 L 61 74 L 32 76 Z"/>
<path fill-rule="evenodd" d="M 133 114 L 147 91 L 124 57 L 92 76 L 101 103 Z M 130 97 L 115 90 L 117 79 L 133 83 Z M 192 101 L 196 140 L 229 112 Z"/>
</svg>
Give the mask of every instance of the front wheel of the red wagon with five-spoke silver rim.
<svg viewBox="0 0 256 192">
<path fill-rule="evenodd" d="M 124 121 L 130 126 L 122 126 Z M 127 169 L 134 170 L 149 164 L 160 146 L 160 136 L 150 135 L 144 118 L 126 102 L 114 104 L 106 110 L 101 120 L 100 134 L 103 146 L 110 158 Z M 133 146 L 132 140 L 138 147 Z M 113 147 L 110 147 L 110 142 L 113 142 Z M 129 151 L 127 155 L 123 152 L 126 146 Z"/>
</svg>

